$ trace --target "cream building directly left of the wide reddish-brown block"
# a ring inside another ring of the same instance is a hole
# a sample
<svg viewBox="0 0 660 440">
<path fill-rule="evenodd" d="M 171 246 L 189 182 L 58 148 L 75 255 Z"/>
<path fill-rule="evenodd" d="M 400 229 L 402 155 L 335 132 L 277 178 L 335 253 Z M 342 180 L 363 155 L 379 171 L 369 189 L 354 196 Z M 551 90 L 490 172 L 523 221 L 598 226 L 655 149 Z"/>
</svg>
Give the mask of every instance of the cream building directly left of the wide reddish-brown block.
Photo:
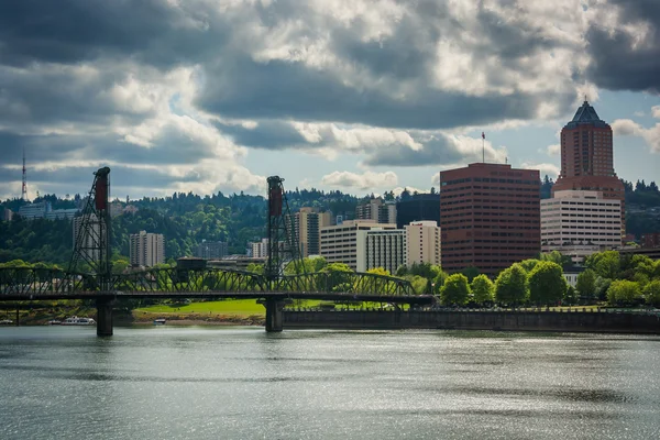
<svg viewBox="0 0 660 440">
<path fill-rule="evenodd" d="M 440 209 L 440 208 L 438 208 Z M 440 265 L 440 228 L 435 221 L 414 221 L 405 226 L 406 257 L 404 264 L 435 264 Z"/>
</svg>

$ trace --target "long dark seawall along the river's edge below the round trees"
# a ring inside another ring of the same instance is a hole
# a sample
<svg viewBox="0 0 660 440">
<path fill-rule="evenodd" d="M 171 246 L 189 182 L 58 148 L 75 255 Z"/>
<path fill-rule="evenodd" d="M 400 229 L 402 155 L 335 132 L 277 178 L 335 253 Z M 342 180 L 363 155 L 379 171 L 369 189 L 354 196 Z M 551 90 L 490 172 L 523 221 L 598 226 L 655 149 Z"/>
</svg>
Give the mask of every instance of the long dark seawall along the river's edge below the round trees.
<svg viewBox="0 0 660 440">
<path fill-rule="evenodd" d="M 284 311 L 284 329 L 457 329 L 660 334 L 660 316 L 590 311 Z"/>
</svg>

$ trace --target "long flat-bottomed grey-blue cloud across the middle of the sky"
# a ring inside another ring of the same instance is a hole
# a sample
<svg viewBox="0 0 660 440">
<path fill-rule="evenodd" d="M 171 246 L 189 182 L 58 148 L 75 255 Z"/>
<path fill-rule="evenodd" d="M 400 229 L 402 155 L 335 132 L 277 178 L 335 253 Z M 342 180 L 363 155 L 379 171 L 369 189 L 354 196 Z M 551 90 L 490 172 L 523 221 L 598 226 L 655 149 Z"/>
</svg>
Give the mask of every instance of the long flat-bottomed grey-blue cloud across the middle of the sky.
<svg viewBox="0 0 660 440">
<path fill-rule="evenodd" d="M 232 118 L 339 121 L 375 127 L 443 129 L 485 124 L 502 119 L 527 119 L 536 112 L 534 97 L 465 96 L 426 89 L 406 100 L 380 90 L 355 90 L 330 73 L 301 64 L 242 58 L 232 68 L 209 73 L 222 79 L 209 84 L 198 103 L 205 110 Z M 223 87 L 231 84 L 232 87 Z M 571 95 L 572 99 L 572 95 Z M 566 97 L 568 100 L 568 97 Z"/>
</svg>

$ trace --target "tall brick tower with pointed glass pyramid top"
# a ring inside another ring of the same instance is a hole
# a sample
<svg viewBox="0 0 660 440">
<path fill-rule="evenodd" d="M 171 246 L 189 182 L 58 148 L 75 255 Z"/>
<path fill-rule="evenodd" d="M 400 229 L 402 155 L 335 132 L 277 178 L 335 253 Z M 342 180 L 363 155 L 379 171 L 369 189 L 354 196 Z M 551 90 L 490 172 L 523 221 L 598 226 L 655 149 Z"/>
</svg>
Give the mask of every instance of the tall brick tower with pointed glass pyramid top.
<svg viewBox="0 0 660 440">
<path fill-rule="evenodd" d="M 612 128 L 586 100 L 561 130 L 561 174 L 552 194 L 563 190 L 600 191 L 605 199 L 620 200 L 625 235 L 625 188 L 614 172 Z"/>
</svg>

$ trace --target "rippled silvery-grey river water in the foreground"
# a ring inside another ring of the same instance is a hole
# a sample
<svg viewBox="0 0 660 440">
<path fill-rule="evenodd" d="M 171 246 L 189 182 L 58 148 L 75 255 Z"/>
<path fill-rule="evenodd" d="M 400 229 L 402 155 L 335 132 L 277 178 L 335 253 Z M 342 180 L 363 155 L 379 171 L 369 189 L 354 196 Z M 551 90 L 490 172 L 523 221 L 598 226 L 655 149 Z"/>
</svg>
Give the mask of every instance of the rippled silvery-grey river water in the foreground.
<svg viewBox="0 0 660 440">
<path fill-rule="evenodd" d="M 660 338 L 0 328 L 0 439 L 660 439 Z"/>
</svg>

